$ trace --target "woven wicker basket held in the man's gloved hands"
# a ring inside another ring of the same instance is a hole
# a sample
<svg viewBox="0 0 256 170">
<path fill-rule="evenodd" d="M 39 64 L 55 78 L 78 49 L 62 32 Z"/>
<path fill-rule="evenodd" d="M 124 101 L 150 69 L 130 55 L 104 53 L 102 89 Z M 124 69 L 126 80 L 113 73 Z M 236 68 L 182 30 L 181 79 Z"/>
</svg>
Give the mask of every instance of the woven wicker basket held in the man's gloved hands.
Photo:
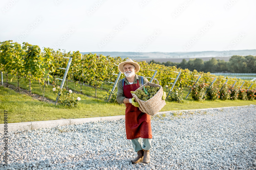
<svg viewBox="0 0 256 170">
<path fill-rule="evenodd" d="M 156 79 L 155 79 L 156 80 Z M 157 80 L 156 80 L 157 81 Z M 158 83 L 158 81 L 157 81 Z M 148 99 L 147 101 L 143 101 L 139 99 L 135 94 L 132 94 L 134 97 L 135 101 L 139 103 L 139 109 L 140 111 L 147 113 L 151 116 L 154 116 L 159 110 L 161 110 L 165 106 L 165 100 L 162 99 L 163 96 L 163 88 L 162 86 L 154 83 L 145 83 L 143 86 L 139 87 L 137 90 L 142 89 L 144 86 L 154 86 L 154 87 L 160 87 L 160 89 L 157 91 L 157 93 Z M 135 90 L 135 91 L 137 91 Z"/>
</svg>

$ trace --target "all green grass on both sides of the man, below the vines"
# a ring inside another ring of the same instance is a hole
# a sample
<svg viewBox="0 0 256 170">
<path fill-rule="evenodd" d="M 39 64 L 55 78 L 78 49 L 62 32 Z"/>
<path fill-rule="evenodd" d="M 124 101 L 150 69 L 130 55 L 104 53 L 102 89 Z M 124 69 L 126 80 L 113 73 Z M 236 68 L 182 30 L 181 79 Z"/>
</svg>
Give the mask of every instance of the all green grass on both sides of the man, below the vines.
<svg viewBox="0 0 256 170">
<path fill-rule="evenodd" d="M 17 86 L 15 79 L 13 79 L 10 84 Z M 72 87 L 74 86 L 73 82 L 69 82 L 68 86 L 72 89 L 72 91 L 74 91 L 74 88 Z M 27 87 L 27 83 L 25 81 L 20 82 L 20 87 L 29 90 L 29 87 Z M 38 82 L 33 82 L 32 88 L 32 93 L 42 95 Z M 52 88 L 52 85 L 48 85 L 48 87 L 46 87 L 45 97 L 55 101 L 56 96 L 54 95 Z M 80 85 L 78 85 L 78 87 L 76 86 L 75 88 L 76 91 L 80 90 Z M 52 103 L 38 101 L 25 94 L 19 94 L 12 89 L 0 86 L 0 110 L 1 113 L 3 113 L 4 110 L 8 111 L 8 123 L 124 115 L 124 104 L 112 104 L 103 100 L 103 95 L 107 94 L 107 91 L 104 89 L 107 88 L 111 89 L 112 85 L 103 85 L 103 90 L 98 89 L 97 94 L 99 98 L 95 99 L 94 97 L 90 97 L 94 96 L 95 90 L 90 86 L 82 86 L 82 90 L 85 95 L 75 94 L 76 97 L 81 98 L 79 107 L 74 109 L 63 109 L 59 106 L 55 106 Z M 185 100 L 188 90 L 189 89 L 184 89 L 184 101 L 182 103 L 170 102 L 166 100 L 166 105 L 161 111 L 256 104 L 256 101 L 248 100 L 193 101 L 190 96 Z M 3 114 L 0 115 L 0 118 L 1 124 L 3 123 Z"/>
</svg>

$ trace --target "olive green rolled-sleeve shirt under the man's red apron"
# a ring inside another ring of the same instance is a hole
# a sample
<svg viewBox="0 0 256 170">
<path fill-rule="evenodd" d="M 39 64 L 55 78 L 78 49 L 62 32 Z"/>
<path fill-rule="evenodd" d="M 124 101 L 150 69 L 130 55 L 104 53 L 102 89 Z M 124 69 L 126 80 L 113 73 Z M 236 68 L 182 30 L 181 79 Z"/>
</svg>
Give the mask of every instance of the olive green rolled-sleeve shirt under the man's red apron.
<svg viewBox="0 0 256 170">
<path fill-rule="evenodd" d="M 140 75 L 137 75 L 135 74 L 135 78 L 134 78 L 134 81 L 133 81 L 133 84 L 136 84 L 137 83 L 137 80 L 139 80 L 139 84 L 141 86 L 141 76 Z M 143 77 L 143 81 L 144 81 L 144 84 L 148 82 L 148 80 L 146 79 L 146 77 Z M 129 85 L 130 83 L 128 82 L 128 80 L 124 79 L 124 85 Z M 119 103 L 124 103 L 124 89 L 123 89 L 123 80 L 119 80 L 118 82 L 118 85 L 117 85 L 117 95 L 116 95 L 116 100 L 117 102 Z"/>
</svg>

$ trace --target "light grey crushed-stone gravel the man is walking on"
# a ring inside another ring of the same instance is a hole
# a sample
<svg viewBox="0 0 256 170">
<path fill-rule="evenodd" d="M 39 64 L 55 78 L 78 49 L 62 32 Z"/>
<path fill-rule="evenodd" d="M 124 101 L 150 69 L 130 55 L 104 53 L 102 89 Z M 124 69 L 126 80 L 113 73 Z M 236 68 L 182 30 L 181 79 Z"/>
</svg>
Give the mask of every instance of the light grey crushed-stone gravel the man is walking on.
<svg viewBox="0 0 256 170">
<path fill-rule="evenodd" d="M 256 105 L 166 113 L 151 123 L 149 164 L 131 164 L 136 153 L 119 120 L 12 132 L 0 169 L 256 169 Z"/>
</svg>

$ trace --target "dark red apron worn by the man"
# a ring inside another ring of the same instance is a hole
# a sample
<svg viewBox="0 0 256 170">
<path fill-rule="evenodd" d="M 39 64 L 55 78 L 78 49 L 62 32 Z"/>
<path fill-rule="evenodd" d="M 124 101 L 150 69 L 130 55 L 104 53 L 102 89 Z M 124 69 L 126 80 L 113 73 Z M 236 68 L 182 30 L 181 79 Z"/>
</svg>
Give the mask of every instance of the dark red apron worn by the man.
<svg viewBox="0 0 256 170">
<path fill-rule="evenodd" d="M 139 81 L 136 84 L 125 85 L 124 81 L 124 96 L 128 99 L 133 98 L 131 91 L 135 91 L 140 87 Z M 125 131 L 127 139 L 136 138 L 152 138 L 151 116 L 143 113 L 138 107 L 132 103 L 125 103 Z"/>
</svg>

